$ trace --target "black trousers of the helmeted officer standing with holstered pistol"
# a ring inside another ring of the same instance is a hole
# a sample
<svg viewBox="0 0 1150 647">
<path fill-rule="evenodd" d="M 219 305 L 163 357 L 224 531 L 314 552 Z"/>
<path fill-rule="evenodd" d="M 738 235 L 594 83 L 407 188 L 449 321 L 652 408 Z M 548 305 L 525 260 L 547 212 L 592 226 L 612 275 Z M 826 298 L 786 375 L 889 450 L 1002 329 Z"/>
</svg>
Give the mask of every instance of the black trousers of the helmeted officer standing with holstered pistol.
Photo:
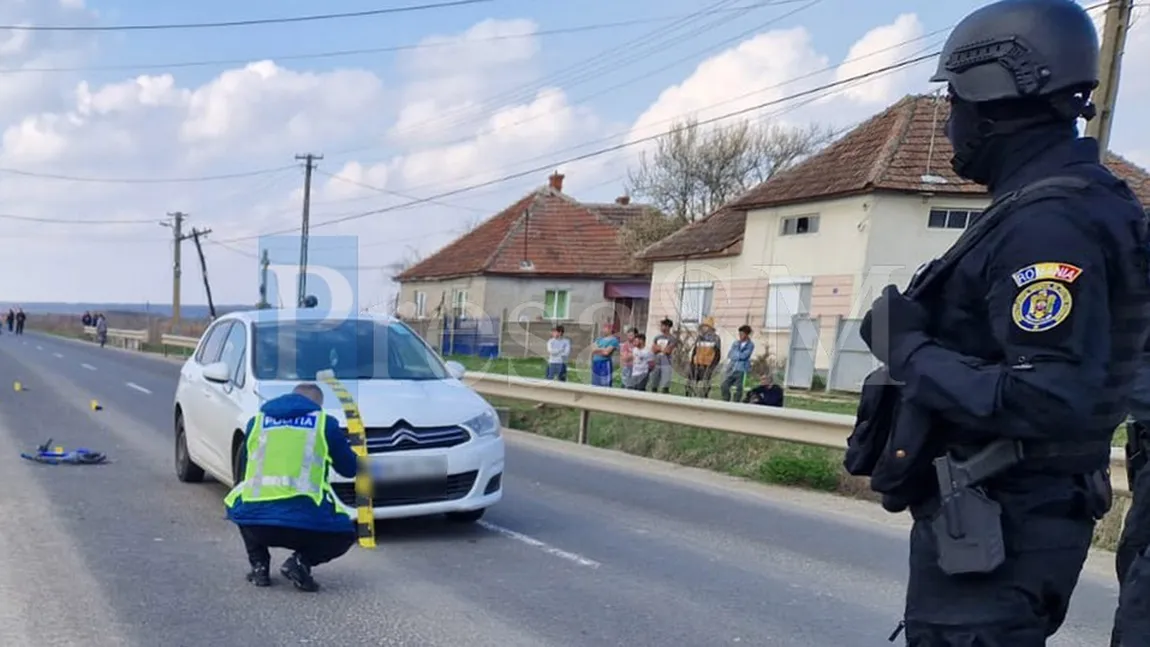
<svg viewBox="0 0 1150 647">
<path fill-rule="evenodd" d="M 1003 507 L 1006 561 L 984 575 L 938 567 L 933 506 L 912 508 L 906 644 L 911 647 L 1044 647 L 1066 619 L 1094 534 L 1081 477 L 1035 477 L 991 491 Z"/>
</svg>

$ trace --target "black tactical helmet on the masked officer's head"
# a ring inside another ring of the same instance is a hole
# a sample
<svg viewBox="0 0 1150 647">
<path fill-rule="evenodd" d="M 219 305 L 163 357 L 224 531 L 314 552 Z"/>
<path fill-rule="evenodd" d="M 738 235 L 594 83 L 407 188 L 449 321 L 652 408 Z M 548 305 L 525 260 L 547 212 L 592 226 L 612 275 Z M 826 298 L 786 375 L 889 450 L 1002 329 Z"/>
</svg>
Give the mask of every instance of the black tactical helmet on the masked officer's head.
<svg viewBox="0 0 1150 647">
<path fill-rule="evenodd" d="M 1089 92 L 1098 32 L 1073 0 L 999 0 L 958 23 L 930 80 L 973 103 Z"/>
</svg>

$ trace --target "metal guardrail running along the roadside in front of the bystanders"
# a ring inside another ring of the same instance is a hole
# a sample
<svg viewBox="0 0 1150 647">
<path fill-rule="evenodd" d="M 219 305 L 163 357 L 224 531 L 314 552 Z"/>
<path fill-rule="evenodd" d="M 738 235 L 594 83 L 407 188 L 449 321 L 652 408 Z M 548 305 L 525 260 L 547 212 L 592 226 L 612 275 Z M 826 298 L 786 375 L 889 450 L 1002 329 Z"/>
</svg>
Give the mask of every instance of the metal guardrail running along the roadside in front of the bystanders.
<svg viewBox="0 0 1150 647">
<path fill-rule="evenodd" d="M 85 329 L 94 334 L 95 329 Z M 108 339 L 138 340 L 141 349 L 147 331 L 108 329 Z M 161 346 L 194 349 L 199 338 L 178 334 L 160 336 Z M 586 444 L 590 415 L 615 414 L 649 421 L 713 429 L 728 433 L 753 436 L 773 440 L 797 442 L 828 449 L 844 449 L 846 437 L 854 426 L 852 416 L 825 414 L 802 409 L 757 407 L 738 402 L 720 402 L 697 398 L 682 398 L 664 393 L 604 388 L 585 384 L 550 382 L 507 375 L 468 372 L 463 376 L 471 388 L 482 395 L 540 402 L 580 411 L 577 441 Z M 1128 494 L 1126 483 L 1126 454 L 1111 449 L 1111 482 L 1114 491 Z"/>
</svg>

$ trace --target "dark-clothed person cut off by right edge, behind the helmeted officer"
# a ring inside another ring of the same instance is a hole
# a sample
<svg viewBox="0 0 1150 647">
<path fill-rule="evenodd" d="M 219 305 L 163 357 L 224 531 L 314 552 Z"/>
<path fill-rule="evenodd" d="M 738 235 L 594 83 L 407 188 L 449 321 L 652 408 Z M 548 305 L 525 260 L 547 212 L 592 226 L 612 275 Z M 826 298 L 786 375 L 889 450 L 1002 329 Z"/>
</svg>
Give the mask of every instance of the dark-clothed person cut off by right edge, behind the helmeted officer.
<svg viewBox="0 0 1150 647">
<path fill-rule="evenodd" d="M 1118 540 L 1119 602 L 1111 647 L 1150 646 L 1150 352 L 1143 355 L 1126 423 L 1126 478 L 1133 502 Z"/>
</svg>

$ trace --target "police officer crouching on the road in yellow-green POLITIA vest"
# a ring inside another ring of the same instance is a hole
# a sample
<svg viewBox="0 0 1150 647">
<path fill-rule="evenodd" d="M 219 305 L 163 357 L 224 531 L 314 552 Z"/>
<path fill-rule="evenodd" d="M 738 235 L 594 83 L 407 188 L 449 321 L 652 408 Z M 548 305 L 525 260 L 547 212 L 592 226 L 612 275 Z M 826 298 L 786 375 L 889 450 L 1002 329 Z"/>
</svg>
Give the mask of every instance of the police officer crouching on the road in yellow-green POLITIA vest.
<svg viewBox="0 0 1150 647">
<path fill-rule="evenodd" d="M 279 572 L 301 591 L 319 591 L 312 568 L 356 541 L 352 517 L 336 504 L 328 465 L 352 478 L 358 460 L 338 421 L 323 413 L 315 384 L 264 402 L 247 423 L 237 470 L 243 482 L 224 499 L 252 565 L 248 581 L 270 585 L 268 548 L 288 548 L 293 553 Z"/>
</svg>

